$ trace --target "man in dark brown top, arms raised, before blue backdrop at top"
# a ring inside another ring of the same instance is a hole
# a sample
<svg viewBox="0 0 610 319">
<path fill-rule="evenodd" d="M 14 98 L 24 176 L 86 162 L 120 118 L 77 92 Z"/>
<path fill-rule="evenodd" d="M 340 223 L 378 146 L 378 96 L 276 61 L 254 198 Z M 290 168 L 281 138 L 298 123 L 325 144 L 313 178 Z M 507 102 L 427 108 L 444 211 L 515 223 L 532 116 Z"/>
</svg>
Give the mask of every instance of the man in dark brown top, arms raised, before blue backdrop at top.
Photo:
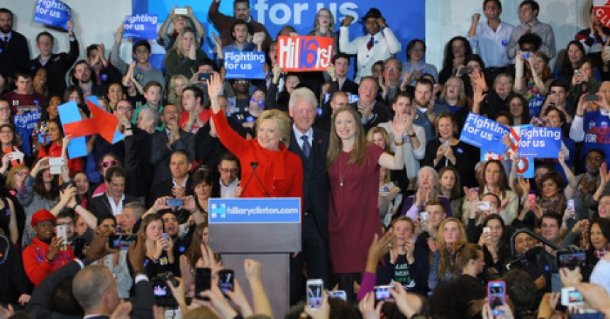
<svg viewBox="0 0 610 319">
<path fill-rule="evenodd" d="M 262 41 L 262 51 L 267 51 L 267 48 L 271 45 L 272 38 L 267 31 L 267 28 L 263 26 L 261 23 L 254 21 L 252 16 L 250 16 L 250 1 L 248 0 L 234 0 L 233 2 L 233 16 L 226 16 L 225 14 L 218 11 L 221 6 L 221 0 L 211 1 L 210 9 L 208 16 L 210 21 L 214 23 L 214 28 L 218 30 L 220 33 L 220 38 L 222 40 L 222 45 L 225 47 L 226 45 L 230 45 L 233 43 L 233 38 L 231 37 L 233 31 L 233 24 L 237 20 L 243 20 L 245 23 L 248 23 L 248 30 L 250 30 L 252 35 L 259 32 L 265 33 L 265 40 Z"/>
</svg>

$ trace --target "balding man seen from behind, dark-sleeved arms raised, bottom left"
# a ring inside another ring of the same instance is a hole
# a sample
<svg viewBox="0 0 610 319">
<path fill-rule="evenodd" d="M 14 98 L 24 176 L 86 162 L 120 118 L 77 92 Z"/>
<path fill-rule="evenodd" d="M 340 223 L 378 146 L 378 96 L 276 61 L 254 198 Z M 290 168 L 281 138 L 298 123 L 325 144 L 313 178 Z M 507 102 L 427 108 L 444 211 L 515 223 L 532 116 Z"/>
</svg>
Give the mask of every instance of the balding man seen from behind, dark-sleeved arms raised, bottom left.
<svg viewBox="0 0 610 319">
<path fill-rule="evenodd" d="M 99 232 L 94 232 L 85 257 L 74 259 L 45 278 L 32 293 L 26 311 L 33 318 L 50 318 L 52 291 L 66 278 L 74 276 L 72 293 L 87 318 L 110 318 L 119 303 L 116 280 L 106 267 L 89 266 L 89 264 L 113 252 L 106 248 L 111 233 L 113 230 L 103 228 L 99 228 Z M 143 271 L 146 257 L 144 241 L 140 235 L 127 253 L 128 262 L 135 275 L 135 293 L 131 299 L 130 318 L 153 318 L 155 296 L 148 276 Z"/>
</svg>

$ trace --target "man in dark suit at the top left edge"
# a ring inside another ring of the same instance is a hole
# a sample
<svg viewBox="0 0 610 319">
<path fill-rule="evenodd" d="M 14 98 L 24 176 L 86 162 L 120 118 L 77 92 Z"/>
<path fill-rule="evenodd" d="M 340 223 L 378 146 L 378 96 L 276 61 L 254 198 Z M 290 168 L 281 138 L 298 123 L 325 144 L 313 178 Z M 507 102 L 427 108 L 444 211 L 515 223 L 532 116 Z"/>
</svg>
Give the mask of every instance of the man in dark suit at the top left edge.
<svg viewBox="0 0 610 319">
<path fill-rule="evenodd" d="M 13 12 L 0 8 L 0 75 L 13 82 L 13 74 L 30 58 L 28 40 L 13 30 Z"/>
</svg>

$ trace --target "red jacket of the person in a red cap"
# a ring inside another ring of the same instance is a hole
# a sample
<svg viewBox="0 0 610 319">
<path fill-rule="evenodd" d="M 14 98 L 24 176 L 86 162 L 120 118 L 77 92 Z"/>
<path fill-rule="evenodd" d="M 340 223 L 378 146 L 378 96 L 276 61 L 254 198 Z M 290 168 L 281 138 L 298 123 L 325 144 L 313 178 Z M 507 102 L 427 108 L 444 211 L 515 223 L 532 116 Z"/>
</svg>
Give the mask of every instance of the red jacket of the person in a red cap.
<svg viewBox="0 0 610 319">
<path fill-rule="evenodd" d="M 38 239 L 38 236 L 34 237 L 32 245 L 23 250 L 23 268 L 26 269 L 28 278 L 35 286 L 38 286 L 50 273 L 74 259 L 74 250 L 70 245 L 67 250 L 60 250 L 55 254 L 52 264 L 45 260 L 47 254 L 49 254 L 49 245 Z"/>
</svg>

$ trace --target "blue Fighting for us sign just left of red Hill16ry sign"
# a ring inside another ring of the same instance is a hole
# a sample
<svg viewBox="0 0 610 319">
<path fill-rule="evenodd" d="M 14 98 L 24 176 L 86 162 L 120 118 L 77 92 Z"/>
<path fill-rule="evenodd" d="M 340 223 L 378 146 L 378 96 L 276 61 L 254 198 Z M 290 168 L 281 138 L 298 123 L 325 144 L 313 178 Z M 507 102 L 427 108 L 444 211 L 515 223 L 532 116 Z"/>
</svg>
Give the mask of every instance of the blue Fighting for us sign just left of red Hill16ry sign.
<svg viewBox="0 0 610 319">
<path fill-rule="evenodd" d="M 265 53 L 257 51 L 224 52 L 226 79 L 265 79 Z"/>
</svg>

